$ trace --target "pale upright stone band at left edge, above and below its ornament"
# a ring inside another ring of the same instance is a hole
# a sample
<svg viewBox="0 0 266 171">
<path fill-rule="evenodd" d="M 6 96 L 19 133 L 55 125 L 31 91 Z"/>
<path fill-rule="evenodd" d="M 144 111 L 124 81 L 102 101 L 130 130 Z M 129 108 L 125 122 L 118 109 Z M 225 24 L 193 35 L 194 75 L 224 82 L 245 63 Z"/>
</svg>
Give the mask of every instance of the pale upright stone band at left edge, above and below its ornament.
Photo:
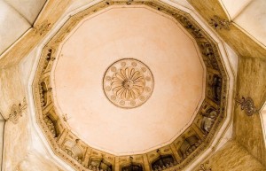
<svg viewBox="0 0 266 171">
<path fill-rule="evenodd" d="M 0 74 L 0 108 L 4 119 L 7 120 L 4 126 L 3 170 L 13 170 L 20 162 L 20 159 L 23 159 L 27 154 L 30 139 L 27 114 L 22 113 L 22 117 L 17 124 L 14 124 L 8 118 L 12 105 L 19 105 L 23 101 L 25 91 L 20 80 L 19 66 L 2 70 Z"/>
</svg>

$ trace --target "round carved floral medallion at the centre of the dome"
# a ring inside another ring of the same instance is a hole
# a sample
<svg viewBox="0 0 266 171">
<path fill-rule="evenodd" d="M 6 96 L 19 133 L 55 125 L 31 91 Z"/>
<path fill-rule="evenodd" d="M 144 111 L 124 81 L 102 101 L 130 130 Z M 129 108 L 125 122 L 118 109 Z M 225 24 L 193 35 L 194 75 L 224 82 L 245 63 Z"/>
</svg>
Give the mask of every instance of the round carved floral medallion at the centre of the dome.
<svg viewBox="0 0 266 171">
<path fill-rule="evenodd" d="M 106 70 L 103 80 L 106 97 L 122 108 L 143 105 L 153 93 L 153 74 L 134 58 L 123 58 Z"/>
</svg>

